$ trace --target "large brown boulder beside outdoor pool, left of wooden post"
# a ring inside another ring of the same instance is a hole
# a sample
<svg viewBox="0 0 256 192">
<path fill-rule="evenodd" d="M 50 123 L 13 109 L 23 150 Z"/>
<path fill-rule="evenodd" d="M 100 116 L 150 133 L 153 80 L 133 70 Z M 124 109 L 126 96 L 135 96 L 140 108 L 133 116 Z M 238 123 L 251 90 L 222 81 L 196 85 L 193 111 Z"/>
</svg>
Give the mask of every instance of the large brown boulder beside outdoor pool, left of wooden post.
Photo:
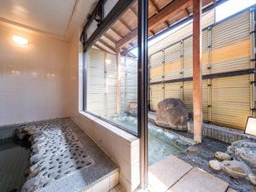
<svg viewBox="0 0 256 192">
<path fill-rule="evenodd" d="M 155 123 L 174 130 L 188 131 L 193 113 L 180 99 L 168 98 L 157 104 Z"/>
</svg>

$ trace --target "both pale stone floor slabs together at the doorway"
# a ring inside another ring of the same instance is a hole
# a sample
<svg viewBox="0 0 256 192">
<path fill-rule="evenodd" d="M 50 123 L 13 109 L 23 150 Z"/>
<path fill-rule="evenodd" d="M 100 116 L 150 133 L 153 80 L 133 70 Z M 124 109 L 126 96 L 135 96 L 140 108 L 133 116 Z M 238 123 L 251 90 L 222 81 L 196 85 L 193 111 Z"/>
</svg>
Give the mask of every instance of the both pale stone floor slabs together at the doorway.
<svg viewBox="0 0 256 192">
<path fill-rule="evenodd" d="M 160 160 L 148 170 L 151 192 L 234 192 L 229 184 L 176 156 Z"/>
</svg>

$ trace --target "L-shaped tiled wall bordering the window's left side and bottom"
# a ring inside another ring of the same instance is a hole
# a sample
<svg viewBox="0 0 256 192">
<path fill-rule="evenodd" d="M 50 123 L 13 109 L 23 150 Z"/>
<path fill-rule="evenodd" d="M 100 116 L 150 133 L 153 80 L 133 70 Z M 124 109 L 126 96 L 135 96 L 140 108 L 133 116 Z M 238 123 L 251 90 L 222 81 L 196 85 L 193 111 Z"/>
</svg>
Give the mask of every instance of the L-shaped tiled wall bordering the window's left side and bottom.
<svg viewBox="0 0 256 192">
<path fill-rule="evenodd" d="M 139 139 L 113 125 L 103 123 L 91 115 L 79 113 L 82 109 L 83 67 L 79 32 L 70 46 L 69 86 L 70 113 L 73 120 L 115 161 L 119 166 L 119 183 L 125 191 L 137 189 L 139 184 Z"/>
</svg>

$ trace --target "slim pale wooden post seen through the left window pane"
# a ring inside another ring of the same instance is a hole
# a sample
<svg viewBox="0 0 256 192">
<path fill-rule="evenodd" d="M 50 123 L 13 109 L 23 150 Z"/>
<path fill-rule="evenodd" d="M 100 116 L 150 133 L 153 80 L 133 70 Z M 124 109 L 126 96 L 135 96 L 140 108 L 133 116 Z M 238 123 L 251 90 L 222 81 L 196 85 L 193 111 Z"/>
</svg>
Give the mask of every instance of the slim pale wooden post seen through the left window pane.
<svg viewBox="0 0 256 192">
<path fill-rule="evenodd" d="M 121 113 L 121 66 L 120 66 L 120 50 L 116 50 L 116 113 Z"/>
</svg>

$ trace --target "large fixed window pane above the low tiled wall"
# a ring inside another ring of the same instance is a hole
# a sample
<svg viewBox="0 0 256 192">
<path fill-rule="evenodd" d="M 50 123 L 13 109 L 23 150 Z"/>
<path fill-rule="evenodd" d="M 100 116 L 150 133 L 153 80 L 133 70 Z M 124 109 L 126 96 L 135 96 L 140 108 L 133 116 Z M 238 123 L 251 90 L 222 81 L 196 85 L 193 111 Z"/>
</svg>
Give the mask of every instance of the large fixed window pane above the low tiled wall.
<svg viewBox="0 0 256 192">
<path fill-rule="evenodd" d="M 137 134 L 137 2 L 86 53 L 86 110 Z"/>
</svg>

